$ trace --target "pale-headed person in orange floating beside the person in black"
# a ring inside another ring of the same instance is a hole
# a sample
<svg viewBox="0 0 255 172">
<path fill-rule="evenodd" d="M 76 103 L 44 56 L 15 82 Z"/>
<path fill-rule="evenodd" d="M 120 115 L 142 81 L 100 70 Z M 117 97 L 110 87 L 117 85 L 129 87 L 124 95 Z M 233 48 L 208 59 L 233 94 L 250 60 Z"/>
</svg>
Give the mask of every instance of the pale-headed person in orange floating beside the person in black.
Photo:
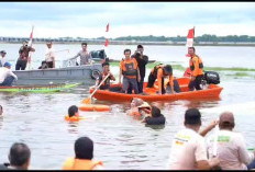
<svg viewBox="0 0 255 172">
<path fill-rule="evenodd" d="M 151 106 L 142 99 L 133 98 L 131 100 L 131 108 L 126 111 L 126 114 L 133 116 L 136 119 L 141 119 L 146 113 L 148 113 Z"/>
</svg>

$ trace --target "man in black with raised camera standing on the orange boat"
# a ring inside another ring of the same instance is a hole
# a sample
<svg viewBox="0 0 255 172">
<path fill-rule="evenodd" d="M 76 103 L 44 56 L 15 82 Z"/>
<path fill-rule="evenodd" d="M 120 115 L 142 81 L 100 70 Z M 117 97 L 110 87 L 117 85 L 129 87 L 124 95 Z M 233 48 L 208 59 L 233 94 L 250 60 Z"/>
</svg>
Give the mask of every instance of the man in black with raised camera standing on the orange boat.
<svg viewBox="0 0 255 172">
<path fill-rule="evenodd" d="M 138 93 L 143 93 L 143 83 L 144 83 L 144 77 L 146 73 L 146 65 L 148 62 L 148 56 L 143 54 L 144 47 L 142 45 L 137 45 L 137 49 L 135 50 L 133 58 L 136 59 L 138 64 L 138 70 L 141 76 L 141 81 L 137 82 L 138 84 Z M 131 89 L 132 90 L 132 89 Z"/>
</svg>

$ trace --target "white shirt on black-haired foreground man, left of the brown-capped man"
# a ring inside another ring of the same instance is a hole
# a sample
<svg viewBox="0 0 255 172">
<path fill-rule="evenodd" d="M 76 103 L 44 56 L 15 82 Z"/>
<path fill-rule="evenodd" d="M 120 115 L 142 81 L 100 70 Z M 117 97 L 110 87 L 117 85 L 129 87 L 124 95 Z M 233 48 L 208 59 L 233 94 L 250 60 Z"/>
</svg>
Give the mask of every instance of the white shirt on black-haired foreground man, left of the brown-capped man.
<svg viewBox="0 0 255 172">
<path fill-rule="evenodd" d="M 198 170 L 196 162 L 208 160 L 206 140 L 192 129 L 175 135 L 168 160 L 168 170 Z"/>
</svg>

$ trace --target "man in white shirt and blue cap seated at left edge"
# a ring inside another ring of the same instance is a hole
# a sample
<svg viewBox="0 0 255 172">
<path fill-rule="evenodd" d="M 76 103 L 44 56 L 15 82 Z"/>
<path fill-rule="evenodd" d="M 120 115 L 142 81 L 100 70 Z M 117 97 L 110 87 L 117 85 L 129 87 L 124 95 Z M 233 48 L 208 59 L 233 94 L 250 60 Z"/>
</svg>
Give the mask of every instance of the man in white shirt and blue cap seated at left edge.
<svg viewBox="0 0 255 172">
<path fill-rule="evenodd" d="M 11 64 L 5 62 L 0 67 L 0 87 L 11 87 L 14 80 L 18 80 L 18 77 L 11 71 Z"/>
</svg>

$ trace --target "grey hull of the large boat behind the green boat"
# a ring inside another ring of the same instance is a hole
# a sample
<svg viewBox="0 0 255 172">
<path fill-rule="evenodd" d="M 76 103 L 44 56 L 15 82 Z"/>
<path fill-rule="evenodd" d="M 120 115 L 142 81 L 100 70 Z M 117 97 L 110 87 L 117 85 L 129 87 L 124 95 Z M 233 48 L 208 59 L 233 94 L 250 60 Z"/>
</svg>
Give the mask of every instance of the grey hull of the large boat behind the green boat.
<svg viewBox="0 0 255 172">
<path fill-rule="evenodd" d="M 77 67 L 37 69 L 37 70 L 14 70 L 18 76 L 16 85 L 49 84 L 49 83 L 85 83 L 95 84 L 95 73 L 101 72 L 101 64 L 85 65 Z"/>
</svg>

